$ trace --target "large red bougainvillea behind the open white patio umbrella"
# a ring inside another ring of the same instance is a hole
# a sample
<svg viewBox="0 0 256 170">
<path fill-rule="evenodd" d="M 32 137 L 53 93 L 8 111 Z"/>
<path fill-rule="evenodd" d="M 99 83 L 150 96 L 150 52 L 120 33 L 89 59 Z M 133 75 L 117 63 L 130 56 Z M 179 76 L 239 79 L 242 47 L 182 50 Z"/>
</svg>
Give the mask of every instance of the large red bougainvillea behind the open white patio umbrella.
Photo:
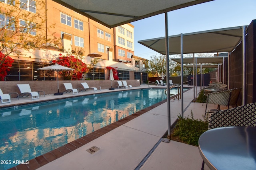
<svg viewBox="0 0 256 170">
<path fill-rule="evenodd" d="M 63 56 L 62 54 L 59 54 L 59 59 L 52 61 L 52 63 L 57 63 L 74 69 L 74 71 L 59 72 L 60 76 L 64 77 L 65 80 L 80 80 L 82 78 L 82 74 L 88 72 L 89 69 L 82 60 L 74 57 L 73 55 Z"/>
</svg>

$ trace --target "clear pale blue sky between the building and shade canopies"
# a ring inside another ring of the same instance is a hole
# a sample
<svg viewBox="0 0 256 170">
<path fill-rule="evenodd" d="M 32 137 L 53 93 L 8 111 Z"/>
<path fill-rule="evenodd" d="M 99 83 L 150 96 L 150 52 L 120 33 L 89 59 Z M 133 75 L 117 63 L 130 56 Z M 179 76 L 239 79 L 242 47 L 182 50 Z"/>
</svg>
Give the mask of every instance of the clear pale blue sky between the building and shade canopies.
<svg viewBox="0 0 256 170">
<path fill-rule="evenodd" d="M 256 0 L 214 0 L 168 12 L 169 36 L 211 29 L 249 25 L 256 19 Z M 159 55 L 140 40 L 165 37 L 165 16 L 160 14 L 132 22 L 134 55 L 150 59 Z"/>
</svg>

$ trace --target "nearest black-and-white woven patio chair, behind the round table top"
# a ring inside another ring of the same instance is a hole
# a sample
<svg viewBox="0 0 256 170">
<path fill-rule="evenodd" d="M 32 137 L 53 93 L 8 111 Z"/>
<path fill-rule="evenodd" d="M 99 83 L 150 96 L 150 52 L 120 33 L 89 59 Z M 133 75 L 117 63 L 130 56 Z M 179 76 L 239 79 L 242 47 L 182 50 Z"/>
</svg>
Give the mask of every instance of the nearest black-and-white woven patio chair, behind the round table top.
<svg viewBox="0 0 256 170">
<path fill-rule="evenodd" d="M 241 89 L 240 89 L 241 90 Z M 209 115 L 208 130 L 228 126 L 256 126 L 256 103 L 219 110 Z M 204 170 L 204 161 L 201 170 Z"/>
</svg>

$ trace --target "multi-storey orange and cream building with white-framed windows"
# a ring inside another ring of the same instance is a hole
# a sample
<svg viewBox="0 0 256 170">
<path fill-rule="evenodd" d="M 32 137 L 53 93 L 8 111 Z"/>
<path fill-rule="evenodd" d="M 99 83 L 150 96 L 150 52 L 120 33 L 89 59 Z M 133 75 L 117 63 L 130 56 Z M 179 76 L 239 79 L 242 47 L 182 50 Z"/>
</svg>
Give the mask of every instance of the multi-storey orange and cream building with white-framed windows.
<svg viewBox="0 0 256 170">
<path fill-rule="evenodd" d="M 108 80 L 109 70 L 107 66 L 117 67 L 119 79 L 140 80 L 146 82 L 148 75 L 146 73 L 146 59 L 134 56 L 134 26 L 130 23 L 114 28 L 108 28 L 97 23 L 73 10 L 66 8 L 52 0 L 45 1 L 44 10 L 46 11 L 45 34 L 54 35 L 62 41 L 62 50 L 68 53 L 72 51 L 82 51 L 83 61 L 90 64 L 93 57 L 87 57 L 90 53 L 98 53 L 101 61 L 91 69 L 86 78 L 91 80 Z M 38 1 L 0 1 L 0 18 L 4 18 L 4 9 L 10 5 L 19 6 L 21 3 L 27 3 L 25 10 L 29 12 L 39 12 Z M 40 6 L 41 7 L 41 6 Z M 41 12 L 41 15 L 44 13 Z M 0 19 L 1 20 L 1 19 Z M 54 25 L 54 27 L 50 27 Z M 50 28 L 49 28 L 50 27 Z M 54 44 L 46 44 L 47 50 L 37 49 L 31 51 L 22 51 L 22 55 L 10 55 L 14 59 L 12 68 L 6 76 L 6 80 L 55 80 L 55 75 L 45 75 L 43 71 L 37 68 L 47 66 L 50 61 L 57 59 L 61 49 Z M 49 48 L 49 46 L 51 48 Z"/>
</svg>

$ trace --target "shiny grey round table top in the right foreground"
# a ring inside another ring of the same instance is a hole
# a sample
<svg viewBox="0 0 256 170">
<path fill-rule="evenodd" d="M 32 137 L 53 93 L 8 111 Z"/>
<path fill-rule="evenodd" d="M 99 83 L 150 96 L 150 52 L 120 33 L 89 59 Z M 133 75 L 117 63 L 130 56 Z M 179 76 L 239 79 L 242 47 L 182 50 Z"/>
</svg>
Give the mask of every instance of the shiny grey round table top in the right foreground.
<svg viewBox="0 0 256 170">
<path fill-rule="evenodd" d="M 220 127 L 206 131 L 199 152 L 213 170 L 256 170 L 256 127 Z"/>
</svg>

